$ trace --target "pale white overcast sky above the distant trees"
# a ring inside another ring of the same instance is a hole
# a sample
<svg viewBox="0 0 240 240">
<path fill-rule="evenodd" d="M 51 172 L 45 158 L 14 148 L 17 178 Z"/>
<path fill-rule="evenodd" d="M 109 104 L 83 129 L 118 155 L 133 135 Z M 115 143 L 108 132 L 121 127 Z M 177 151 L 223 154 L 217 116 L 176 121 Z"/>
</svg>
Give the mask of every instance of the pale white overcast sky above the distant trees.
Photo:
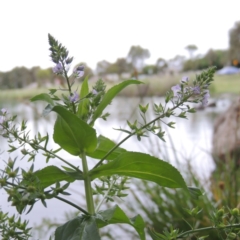
<svg viewBox="0 0 240 240">
<path fill-rule="evenodd" d="M 92 69 L 125 58 L 133 45 L 150 51 L 146 61 L 227 49 L 240 21 L 239 0 L 0 0 L 0 71 L 54 66 L 48 33 Z"/>
</svg>

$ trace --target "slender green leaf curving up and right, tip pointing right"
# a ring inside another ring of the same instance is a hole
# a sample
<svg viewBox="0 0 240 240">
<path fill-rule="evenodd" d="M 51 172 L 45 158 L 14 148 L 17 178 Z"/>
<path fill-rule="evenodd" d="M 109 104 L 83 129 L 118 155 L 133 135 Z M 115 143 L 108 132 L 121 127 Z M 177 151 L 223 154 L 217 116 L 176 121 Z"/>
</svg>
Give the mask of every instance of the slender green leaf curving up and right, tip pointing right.
<svg viewBox="0 0 240 240">
<path fill-rule="evenodd" d="M 118 85 L 115 85 L 114 87 L 110 88 L 106 94 L 104 95 L 102 101 L 98 105 L 96 111 L 93 114 L 92 122 L 90 125 L 93 125 L 95 120 L 99 118 L 102 115 L 103 110 L 111 103 L 113 98 L 125 87 L 127 87 L 130 84 L 141 84 L 142 82 L 137 80 L 126 80 L 122 83 L 119 83 Z"/>
</svg>

